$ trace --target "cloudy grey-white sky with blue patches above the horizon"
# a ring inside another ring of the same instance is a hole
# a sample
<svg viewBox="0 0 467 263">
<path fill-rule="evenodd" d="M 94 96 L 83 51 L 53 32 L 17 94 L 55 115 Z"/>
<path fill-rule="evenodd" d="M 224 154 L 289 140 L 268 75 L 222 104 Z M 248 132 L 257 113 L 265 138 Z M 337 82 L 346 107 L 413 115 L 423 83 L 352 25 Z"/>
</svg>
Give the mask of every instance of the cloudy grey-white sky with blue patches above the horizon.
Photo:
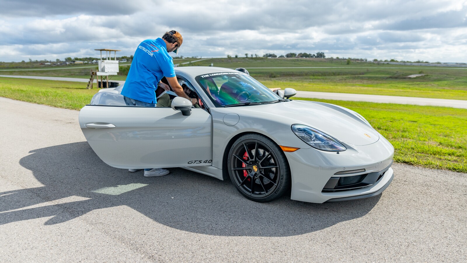
<svg viewBox="0 0 467 263">
<path fill-rule="evenodd" d="M 0 0 L 0 61 L 133 55 L 175 29 L 179 55 L 325 52 L 467 62 L 467 0 Z"/>
</svg>

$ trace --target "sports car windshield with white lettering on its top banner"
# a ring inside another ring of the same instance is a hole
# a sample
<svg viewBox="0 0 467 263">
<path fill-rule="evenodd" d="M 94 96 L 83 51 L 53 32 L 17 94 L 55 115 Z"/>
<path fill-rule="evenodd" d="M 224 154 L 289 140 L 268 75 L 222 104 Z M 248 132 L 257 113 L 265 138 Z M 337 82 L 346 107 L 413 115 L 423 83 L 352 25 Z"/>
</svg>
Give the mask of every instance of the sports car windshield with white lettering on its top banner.
<svg viewBox="0 0 467 263">
<path fill-rule="evenodd" d="M 196 81 L 216 107 L 245 103 L 268 103 L 281 97 L 245 73 L 221 72 L 200 75 Z"/>
</svg>

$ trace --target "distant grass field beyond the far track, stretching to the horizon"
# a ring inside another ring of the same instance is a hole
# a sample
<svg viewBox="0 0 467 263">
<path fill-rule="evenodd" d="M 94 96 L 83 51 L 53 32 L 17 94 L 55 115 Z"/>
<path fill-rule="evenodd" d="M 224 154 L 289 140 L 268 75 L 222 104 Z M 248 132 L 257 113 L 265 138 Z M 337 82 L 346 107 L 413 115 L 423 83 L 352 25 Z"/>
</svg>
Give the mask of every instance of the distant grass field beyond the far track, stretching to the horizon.
<svg viewBox="0 0 467 263">
<path fill-rule="evenodd" d="M 193 60 L 197 58 L 177 59 L 174 63 Z M 186 66 L 209 66 L 211 63 L 214 66 L 227 68 L 245 67 L 253 77 L 269 88 L 467 100 L 467 68 L 365 62 L 352 62 L 347 65 L 344 59 L 320 58 L 211 58 Z M 49 68 L 54 70 L 1 71 L 0 69 L 0 75 L 89 78 L 90 68 L 69 66 L 61 67 L 62 69 L 50 66 Z M 426 75 L 413 79 L 406 78 L 408 75 L 418 73 Z M 126 80 L 126 75 L 112 76 L 111 80 Z"/>
</svg>

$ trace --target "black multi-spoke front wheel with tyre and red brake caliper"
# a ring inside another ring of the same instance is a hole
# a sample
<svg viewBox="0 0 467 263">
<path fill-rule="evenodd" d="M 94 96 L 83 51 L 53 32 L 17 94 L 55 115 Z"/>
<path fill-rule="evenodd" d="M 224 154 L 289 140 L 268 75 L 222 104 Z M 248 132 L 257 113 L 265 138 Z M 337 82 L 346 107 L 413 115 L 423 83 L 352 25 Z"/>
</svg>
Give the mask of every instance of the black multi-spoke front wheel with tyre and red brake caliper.
<svg viewBox="0 0 467 263">
<path fill-rule="evenodd" d="M 237 190 L 256 202 L 281 197 L 290 188 L 290 169 L 282 149 L 260 134 L 246 134 L 233 143 L 227 168 Z"/>
</svg>

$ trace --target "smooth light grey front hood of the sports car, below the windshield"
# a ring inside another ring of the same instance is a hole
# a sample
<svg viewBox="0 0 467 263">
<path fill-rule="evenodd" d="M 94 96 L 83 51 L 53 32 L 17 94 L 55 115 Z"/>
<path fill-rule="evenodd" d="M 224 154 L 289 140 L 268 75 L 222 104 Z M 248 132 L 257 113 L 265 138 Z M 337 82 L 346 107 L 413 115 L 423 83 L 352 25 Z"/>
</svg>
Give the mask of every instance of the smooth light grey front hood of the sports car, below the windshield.
<svg viewBox="0 0 467 263">
<path fill-rule="evenodd" d="M 379 133 L 350 110 L 333 104 L 293 100 L 265 105 L 226 108 L 242 118 L 274 118 L 284 124 L 304 124 L 342 142 L 362 146 L 375 143 Z"/>
</svg>

